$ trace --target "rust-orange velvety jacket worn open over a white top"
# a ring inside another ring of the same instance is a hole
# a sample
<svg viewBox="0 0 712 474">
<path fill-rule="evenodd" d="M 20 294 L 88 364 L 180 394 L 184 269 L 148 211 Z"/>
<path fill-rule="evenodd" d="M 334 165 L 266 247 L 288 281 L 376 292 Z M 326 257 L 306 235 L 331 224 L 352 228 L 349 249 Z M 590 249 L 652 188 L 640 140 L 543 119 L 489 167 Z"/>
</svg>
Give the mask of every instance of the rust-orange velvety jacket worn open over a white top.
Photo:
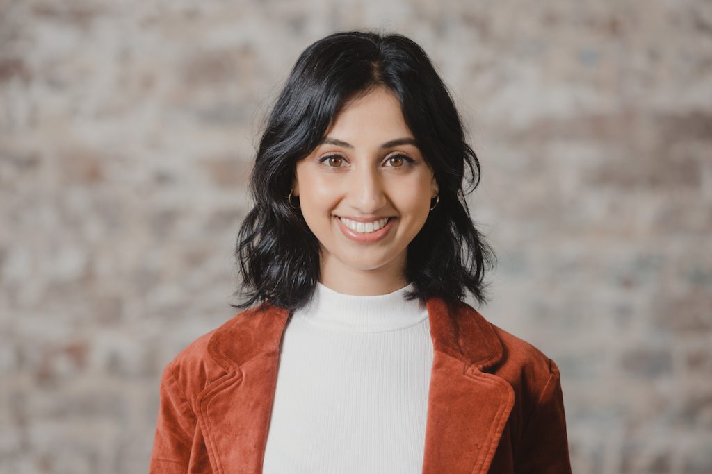
<svg viewBox="0 0 712 474">
<path fill-rule="evenodd" d="M 426 308 L 434 359 L 422 473 L 570 473 L 554 361 L 467 303 L 432 297 Z M 150 473 L 261 472 L 289 316 L 248 308 L 167 365 Z"/>
</svg>

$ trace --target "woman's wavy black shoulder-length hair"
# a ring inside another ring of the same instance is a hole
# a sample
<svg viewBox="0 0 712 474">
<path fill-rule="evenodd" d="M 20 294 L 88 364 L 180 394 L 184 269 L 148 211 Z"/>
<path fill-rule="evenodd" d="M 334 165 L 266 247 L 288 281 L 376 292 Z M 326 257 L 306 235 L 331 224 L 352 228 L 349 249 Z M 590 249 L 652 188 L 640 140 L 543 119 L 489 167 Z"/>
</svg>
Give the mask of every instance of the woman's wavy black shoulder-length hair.
<svg viewBox="0 0 712 474">
<path fill-rule="evenodd" d="M 254 207 L 239 230 L 236 260 L 242 282 L 235 294 L 253 303 L 295 309 L 308 303 L 320 276 L 320 246 L 298 208 L 288 201 L 295 166 L 323 139 L 345 103 L 376 87 L 399 100 L 405 122 L 439 185 L 439 203 L 409 243 L 406 298 L 461 301 L 468 290 L 488 296 L 485 269 L 496 257 L 469 215 L 465 195 L 480 181 L 480 164 L 446 85 L 425 51 L 400 34 L 334 33 L 299 56 L 279 94 L 250 178 Z M 471 174 L 464 190 L 464 171 Z"/>
</svg>

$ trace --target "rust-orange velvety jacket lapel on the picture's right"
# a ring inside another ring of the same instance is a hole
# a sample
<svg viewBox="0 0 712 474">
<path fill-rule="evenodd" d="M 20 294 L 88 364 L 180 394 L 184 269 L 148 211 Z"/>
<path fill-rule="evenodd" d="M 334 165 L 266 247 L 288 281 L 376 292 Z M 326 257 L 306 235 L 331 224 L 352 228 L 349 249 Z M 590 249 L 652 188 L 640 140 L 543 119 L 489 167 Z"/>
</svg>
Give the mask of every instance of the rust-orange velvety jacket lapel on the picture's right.
<svg viewBox="0 0 712 474">
<path fill-rule="evenodd" d="M 514 404 L 514 390 L 483 372 L 503 355 L 485 319 L 464 303 L 426 303 L 434 357 L 423 474 L 486 473 Z"/>
</svg>

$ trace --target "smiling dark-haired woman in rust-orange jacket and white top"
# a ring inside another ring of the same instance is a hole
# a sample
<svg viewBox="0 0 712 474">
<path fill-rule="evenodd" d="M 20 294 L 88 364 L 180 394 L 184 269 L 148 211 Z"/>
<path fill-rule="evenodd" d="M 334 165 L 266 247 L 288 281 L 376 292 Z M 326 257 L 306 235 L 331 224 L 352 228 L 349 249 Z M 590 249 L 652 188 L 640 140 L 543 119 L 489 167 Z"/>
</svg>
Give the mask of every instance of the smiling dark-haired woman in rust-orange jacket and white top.
<svg viewBox="0 0 712 474">
<path fill-rule="evenodd" d="M 494 259 L 465 165 L 417 44 L 310 45 L 257 151 L 244 311 L 164 370 L 151 472 L 569 473 L 557 366 L 463 301 Z"/>
</svg>

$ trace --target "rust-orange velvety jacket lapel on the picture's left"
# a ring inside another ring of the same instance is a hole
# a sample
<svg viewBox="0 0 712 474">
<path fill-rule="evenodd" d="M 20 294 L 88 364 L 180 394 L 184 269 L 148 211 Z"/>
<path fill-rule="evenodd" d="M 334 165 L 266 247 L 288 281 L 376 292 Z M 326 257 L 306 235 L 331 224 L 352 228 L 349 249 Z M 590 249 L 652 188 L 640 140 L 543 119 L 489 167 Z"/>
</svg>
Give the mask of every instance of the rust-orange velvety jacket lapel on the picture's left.
<svg viewBox="0 0 712 474">
<path fill-rule="evenodd" d="M 211 357 L 226 371 L 201 392 L 197 417 L 216 474 L 257 474 L 267 444 L 279 345 L 289 311 L 263 304 L 216 329 Z"/>
</svg>

